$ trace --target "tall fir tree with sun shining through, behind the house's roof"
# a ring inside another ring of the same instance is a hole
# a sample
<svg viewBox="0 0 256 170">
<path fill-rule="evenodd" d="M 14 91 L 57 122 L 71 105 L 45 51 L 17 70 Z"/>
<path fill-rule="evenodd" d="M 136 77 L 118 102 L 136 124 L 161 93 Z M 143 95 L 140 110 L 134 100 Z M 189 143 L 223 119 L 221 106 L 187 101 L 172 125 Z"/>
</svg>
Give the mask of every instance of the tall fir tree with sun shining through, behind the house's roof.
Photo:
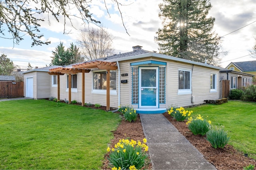
<svg viewBox="0 0 256 170">
<path fill-rule="evenodd" d="M 210 0 L 164 0 L 159 4 L 163 28 L 156 32 L 160 53 L 197 62 L 217 64 L 220 37 L 212 31 L 215 18 L 208 17 Z"/>
</svg>

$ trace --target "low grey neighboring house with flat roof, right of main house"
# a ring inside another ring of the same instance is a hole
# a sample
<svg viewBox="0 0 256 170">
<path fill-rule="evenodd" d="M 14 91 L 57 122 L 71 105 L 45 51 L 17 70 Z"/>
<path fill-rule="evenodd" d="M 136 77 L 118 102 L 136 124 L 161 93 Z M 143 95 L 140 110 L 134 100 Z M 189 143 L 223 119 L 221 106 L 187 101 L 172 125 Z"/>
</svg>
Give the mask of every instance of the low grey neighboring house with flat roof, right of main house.
<svg viewBox="0 0 256 170">
<path fill-rule="evenodd" d="M 229 80 L 229 89 L 238 89 L 242 86 L 246 87 L 252 85 L 252 79 L 254 75 L 242 71 L 235 71 L 232 69 L 220 70 L 220 81 Z"/>
</svg>

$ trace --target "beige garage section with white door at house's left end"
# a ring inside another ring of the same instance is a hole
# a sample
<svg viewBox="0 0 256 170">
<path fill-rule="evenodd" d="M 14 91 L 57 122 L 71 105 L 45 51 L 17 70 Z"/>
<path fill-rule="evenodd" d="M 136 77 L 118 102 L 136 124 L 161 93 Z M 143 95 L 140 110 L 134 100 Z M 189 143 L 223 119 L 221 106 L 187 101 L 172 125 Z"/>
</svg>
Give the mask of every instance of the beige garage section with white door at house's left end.
<svg viewBox="0 0 256 170">
<path fill-rule="evenodd" d="M 56 67 L 60 66 L 53 65 L 22 72 L 24 74 L 24 96 L 34 99 L 49 98 L 54 80 L 52 80 L 52 76 L 48 74 L 48 71 Z"/>
</svg>

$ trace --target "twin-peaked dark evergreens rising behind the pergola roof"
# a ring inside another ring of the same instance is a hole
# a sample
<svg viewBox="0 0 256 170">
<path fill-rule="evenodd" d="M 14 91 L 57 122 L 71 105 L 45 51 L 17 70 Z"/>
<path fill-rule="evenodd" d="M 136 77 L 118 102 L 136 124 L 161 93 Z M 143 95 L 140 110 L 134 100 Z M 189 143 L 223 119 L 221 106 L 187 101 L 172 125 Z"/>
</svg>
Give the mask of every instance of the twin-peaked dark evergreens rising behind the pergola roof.
<svg viewBox="0 0 256 170">
<path fill-rule="evenodd" d="M 50 65 L 69 65 L 78 62 L 83 62 L 84 58 L 81 57 L 79 48 L 76 47 L 73 43 L 70 44 L 70 47 L 65 50 L 63 42 L 55 48 L 55 51 L 52 51 L 52 61 Z"/>
</svg>

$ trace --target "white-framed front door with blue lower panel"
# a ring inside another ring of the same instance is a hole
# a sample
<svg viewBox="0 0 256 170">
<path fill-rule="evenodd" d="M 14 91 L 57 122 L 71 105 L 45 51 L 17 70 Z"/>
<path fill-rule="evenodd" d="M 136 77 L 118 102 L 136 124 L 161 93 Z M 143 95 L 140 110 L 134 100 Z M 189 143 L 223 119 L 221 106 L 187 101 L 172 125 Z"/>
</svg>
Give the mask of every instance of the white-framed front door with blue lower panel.
<svg viewBox="0 0 256 170">
<path fill-rule="evenodd" d="M 139 69 L 139 107 L 158 108 L 158 67 Z"/>
</svg>

